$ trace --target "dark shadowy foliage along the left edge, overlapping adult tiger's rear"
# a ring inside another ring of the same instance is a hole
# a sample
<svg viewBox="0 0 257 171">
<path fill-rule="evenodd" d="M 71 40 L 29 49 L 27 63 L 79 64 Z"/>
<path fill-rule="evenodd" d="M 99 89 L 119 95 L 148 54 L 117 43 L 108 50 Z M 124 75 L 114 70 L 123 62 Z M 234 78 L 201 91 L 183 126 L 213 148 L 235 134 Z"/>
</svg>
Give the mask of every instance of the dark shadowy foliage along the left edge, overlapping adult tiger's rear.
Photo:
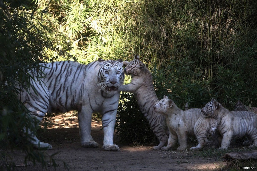
<svg viewBox="0 0 257 171">
<path fill-rule="evenodd" d="M 21 146 L 26 153 L 25 163 L 29 159 L 35 164 L 46 166 L 46 154 L 34 150 L 27 139 L 31 138 L 21 131 L 31 128 L 35 133 L 36 122 L 29 117 L 28 110 L 17 99 L 19 87 L 30 86 L 29 71 L 37 68 L 35 62 L 44 58 L 43 46 L 49 46 L 42 37 L 43 32 L 34 25 L 33 16 L 27 10 L 34 9 L 34 1 L 0 2 L 0 170 L 14 169 L 14 163 L 8 162 L 5 149 Z M 52 156 L 50 156 L 51 158 Z M 54 160 L 51 158 L 51 161 Z"/>
</svg>

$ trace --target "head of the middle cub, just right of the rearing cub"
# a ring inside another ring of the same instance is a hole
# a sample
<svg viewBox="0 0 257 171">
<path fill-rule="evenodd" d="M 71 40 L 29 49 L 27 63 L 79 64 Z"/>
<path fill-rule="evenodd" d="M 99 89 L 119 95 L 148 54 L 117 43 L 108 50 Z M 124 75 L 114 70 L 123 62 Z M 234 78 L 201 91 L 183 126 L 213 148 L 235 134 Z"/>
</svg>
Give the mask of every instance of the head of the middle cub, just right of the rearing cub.
<svg viewBox="0 0 257 171">
<path fill-rule="evenodd" d="M 154 106 L 154 110 L 162 114 L 168 114 L 168 109 L 173 107 L 174 104 L 175 103 L 171 99 L 164 96 L 163 99 L 161 99 L 158 104 Z"/>
</svg>

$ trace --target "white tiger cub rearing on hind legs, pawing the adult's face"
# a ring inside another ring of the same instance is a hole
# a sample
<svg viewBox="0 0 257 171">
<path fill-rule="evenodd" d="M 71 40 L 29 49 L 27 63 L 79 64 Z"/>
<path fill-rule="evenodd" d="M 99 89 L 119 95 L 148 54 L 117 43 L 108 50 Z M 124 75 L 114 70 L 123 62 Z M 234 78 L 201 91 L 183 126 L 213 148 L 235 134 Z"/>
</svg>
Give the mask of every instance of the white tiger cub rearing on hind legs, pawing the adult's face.
<svg viewBox="0 0 257 171">
<path fill-rule="evenodd" d="M 167 126 L 164 116 L 155 112 L 153 108 L 159 100 L 155 94 L 151 72 L 140 61 L 138 54 L 135 55 L 134 60 L 124 61 L 123 64 L 126 66 L 124 68 L 125 74 L 131 75 L 132 80 L 130 84 L 122 85 L 120 88 L 122 91 L 134 93 L 138 107 L 160 141 L 159 145 L 154 146 L 153 149 L 160 150 L 168 140 Z"/>
</svg>

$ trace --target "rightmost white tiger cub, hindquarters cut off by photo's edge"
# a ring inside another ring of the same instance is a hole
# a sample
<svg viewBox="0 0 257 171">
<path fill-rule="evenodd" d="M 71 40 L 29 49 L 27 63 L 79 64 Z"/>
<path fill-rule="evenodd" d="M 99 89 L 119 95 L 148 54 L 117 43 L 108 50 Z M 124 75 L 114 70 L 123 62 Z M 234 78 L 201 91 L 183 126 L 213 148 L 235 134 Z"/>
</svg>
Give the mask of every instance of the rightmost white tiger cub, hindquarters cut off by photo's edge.
<svg viewBox="0 0 257 171">
<path fill-rule="evenodd" d="M 227 150 L 232 139 L 247 136 L 253 141 L 249 147 L 257 146 L 257 114 L 250 111 L 229 111 L 217 100 L 212 99 L 201 110 L 206 117 L 217 120 L 217 130 L 222 136 L 216 137 L 221 146 L 218 150 Z"/>
</svg>

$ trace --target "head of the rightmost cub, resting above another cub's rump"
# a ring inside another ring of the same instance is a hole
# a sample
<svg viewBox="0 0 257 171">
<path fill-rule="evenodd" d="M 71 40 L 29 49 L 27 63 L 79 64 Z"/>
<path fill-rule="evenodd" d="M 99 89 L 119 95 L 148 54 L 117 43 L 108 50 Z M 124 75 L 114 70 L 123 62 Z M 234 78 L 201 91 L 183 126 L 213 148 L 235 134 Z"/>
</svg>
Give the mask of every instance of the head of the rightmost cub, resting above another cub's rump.
<svg viewBox="0 0 257 171">
<path fill-rule="evenodd" d="M 201 112 L 204 117 L 214 117 L 215 110 L 218 110 L 220 107 L 221 107 L 221 104 L 215 99 L 212 99 L 210 102 L 208 102 L 205 105 L 205 107 L 201 109 Z"/>
</svg>

